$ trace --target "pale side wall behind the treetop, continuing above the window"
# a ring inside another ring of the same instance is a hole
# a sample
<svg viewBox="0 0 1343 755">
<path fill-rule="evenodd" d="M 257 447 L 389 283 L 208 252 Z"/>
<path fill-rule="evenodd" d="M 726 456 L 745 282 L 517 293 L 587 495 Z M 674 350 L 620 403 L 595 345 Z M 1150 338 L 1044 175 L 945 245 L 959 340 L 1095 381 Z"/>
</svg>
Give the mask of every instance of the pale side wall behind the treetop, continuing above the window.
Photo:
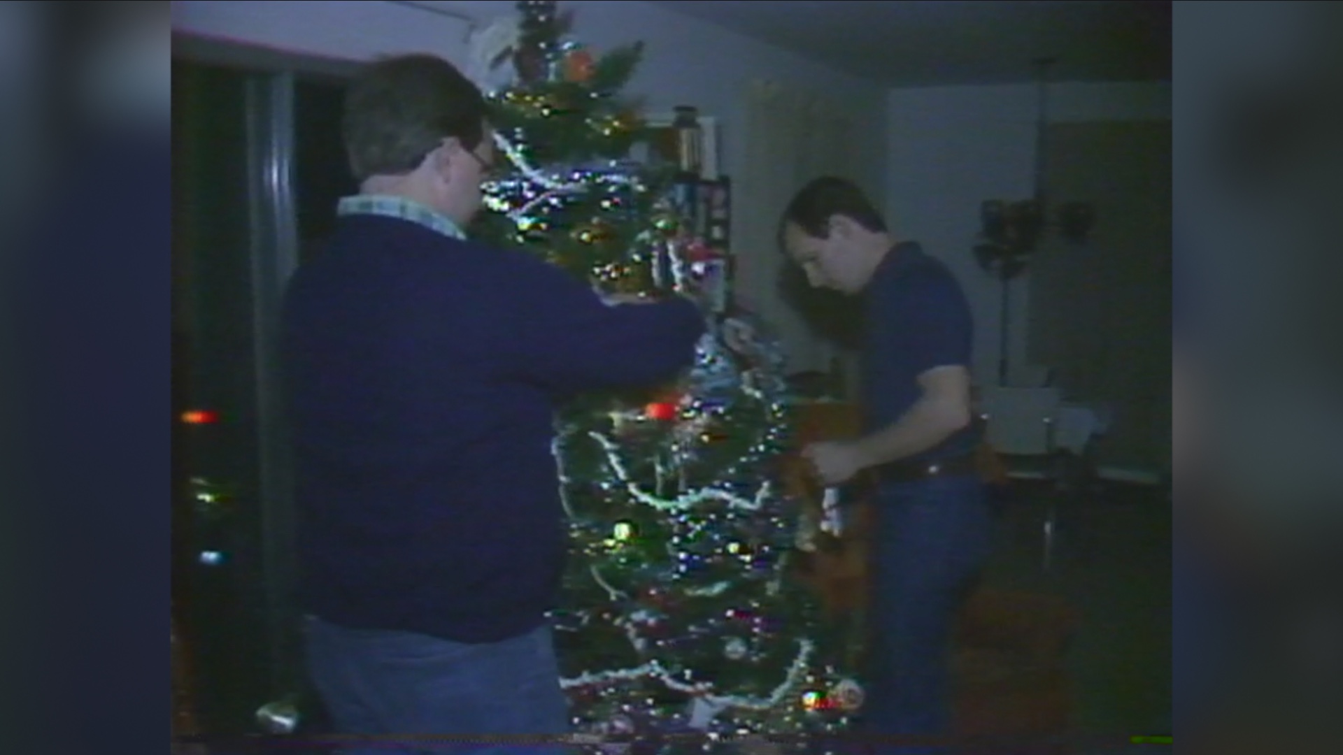
<svg viewBox="0 0 1343 755">
<path fill-rule="evenodd" d="M 512 0 L 432 4 L 478 21 L 516 13 Z M 645 63 L 630 93 L 647 98 L 649 113 L 694 105 L 705 116 L 717 116 L 727 175 L 739 175 L 744 165 L 740 129 L 745 121 L 745 86 L 766 78 L 825 91 L 850 109 L 857 122 L 868 124 L 860 154 L 870 156 L 872 175 L 861 179 L 876 187 L 884 184 L 884 87 L 645 3 L 573 0 L 560 7 L 575 9 L 575 36 L 596 50 L 645 42 Z M 388 52 L 435 52 L 459 64 L 466 62 L 465 21 L 373 0 L 181 0 L 173 4 L 173 28 L 317 56 L 367 59 Z M 743 275 L 751 274 L 752 259 L 775 254 L 772 249 L 735 251 Z"/>
</svg>

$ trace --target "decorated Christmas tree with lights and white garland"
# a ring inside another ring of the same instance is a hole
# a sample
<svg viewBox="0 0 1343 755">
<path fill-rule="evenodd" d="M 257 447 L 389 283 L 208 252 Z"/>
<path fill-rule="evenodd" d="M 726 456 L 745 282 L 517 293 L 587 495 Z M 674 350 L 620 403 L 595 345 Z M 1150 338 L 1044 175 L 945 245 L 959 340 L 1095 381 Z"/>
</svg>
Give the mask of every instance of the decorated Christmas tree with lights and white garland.
<svg viewBox="0 0 1343 755">
<path fill-rule="evenodd" d="M 642 46 L 595 55 L 556 3 L 473 38 L 506 173 L 475 234 L 522 246 L 606 293 L 698 293 L 710 332 L 676 386 L 592 395 L 557 416 L 572 533 L 556 637 L 579 731 L 622 735 L 835 731 L 861 689 L 811 595 L 790 582 L 799 505 L 778 485 L 782 359 L 721 336 L 692 232 L 685 164 L 629 160 L 646 137 L 620 94 Z M 753 329 L 760 333 L 760 328 Z"/>
</svg>

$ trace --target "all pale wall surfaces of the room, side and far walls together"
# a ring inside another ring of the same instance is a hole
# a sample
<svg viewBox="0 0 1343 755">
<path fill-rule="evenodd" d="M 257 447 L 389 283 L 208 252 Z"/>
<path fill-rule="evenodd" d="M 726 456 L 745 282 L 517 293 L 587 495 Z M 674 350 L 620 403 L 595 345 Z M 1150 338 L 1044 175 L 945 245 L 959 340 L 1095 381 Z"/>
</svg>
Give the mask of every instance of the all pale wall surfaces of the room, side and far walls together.
<svg viewBox="0 0 1343 755">
<path fill-rule="evenodd" d="M 435 5 L 481 21 L 514 13 L 512 0 L 445 0 Z M 744 161 L 743 90 L 771 78 L 826 91 L 861 122 L 870 154 L 870 185 L 885 187 L 888 219 L 898 235 L 925 245 L 960 277 L 975 309 L 976 364 L 992 380 L 998 364 L 997 282 L 974 262 L 979 203 L 1026 199 L 1033 192 L 1037 89 L 967 86 L 881 87 L 788 51 L 634 0 L 572 0 L 575 34 L 596 48 L 645 40 L 646 58 L 630 85 L 649 112 L 696 105 L 721 120 L 721 160 L 728 175 Z M 180 0 L 173 27 L 247 44 L 316 56 L 367 59 L 430 51 L 463 62 L 466 24 L 424 9 L 379 0 Z M 1170 85 L 1058 83 L 1050 87 L 1052 121 L 1168 120 Z M 743 267 L 774 250 L 737 250 Z M 749 271 L 744 273 L 749 274 Z M 1013 364 L 1025 364 L 1029 279 L 1015 283 Z"/>
</svg>

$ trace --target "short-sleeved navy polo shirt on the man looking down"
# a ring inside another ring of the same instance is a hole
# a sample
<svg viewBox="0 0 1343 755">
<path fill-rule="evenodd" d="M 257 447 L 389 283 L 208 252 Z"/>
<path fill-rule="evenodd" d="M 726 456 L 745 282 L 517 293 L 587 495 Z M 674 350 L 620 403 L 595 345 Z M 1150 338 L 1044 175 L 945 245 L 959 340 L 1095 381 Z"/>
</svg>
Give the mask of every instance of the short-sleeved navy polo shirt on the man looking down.
<svg viewBox="0 0 1343 755">
<path fill-rule="evenodd" d="M 862 292 L 862 403 L 866 433 L 898 420 L 919 400 L 919 376 L 935 367 L 970 368 L 974 322 L 955 275 L 915 242 L 892 247 Z M 909 461 L 974 451 L 979 429 L 966 427 Z"/>
</svg>

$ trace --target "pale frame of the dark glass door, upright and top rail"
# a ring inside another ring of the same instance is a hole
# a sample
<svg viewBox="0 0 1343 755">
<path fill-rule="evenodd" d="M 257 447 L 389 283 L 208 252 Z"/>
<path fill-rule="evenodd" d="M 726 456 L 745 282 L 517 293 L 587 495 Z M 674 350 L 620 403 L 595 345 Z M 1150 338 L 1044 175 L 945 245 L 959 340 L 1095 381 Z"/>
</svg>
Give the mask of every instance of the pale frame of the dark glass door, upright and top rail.
<svg viewBox="0 0 1343 755">
<path fill-rule="evenodd" d="M 357 63 L 295 55 L 283 51 L 238 44 L 230 40 L 173 34 L 173 58 L 187 63 L 227 69 L 246 75 L 246 287 L 239 293 L 247 302 L 250 326 L 250 353 L 239 364 L 250 369 L 247 376 L 248 402 L 255 406 L 240 408 L 239 422 L 247 425 L 243 433 L 250 443 L 254 473 L 247 474 L 247 488 L 254 501 L 239 505 L 251 508 L 255 520 L 238 520 L 238 527 L 248 529 L 239 537 L 257 537 L 257 551 L 250 553 L 257 574 L 236 575 L 239 599 L 263 614 L 259 638 L 263 648 L 265 699 L 247 701 L 259 707 L 281 697 L 305 696 L 306 674 L 302 668 L 299 643 L 299 615 L 293 602 L 295 586 L 293 466 L 289 451 L 289 429 L 281 386 L 278 321 L 283 290 L 299 262 L 299 230 L 295 199 L 295 86 L 306 78 L 346 79 Z M 232 265 L 232 263 L 231 263 Z M 197 281 L 195 286 L 203 285 Z M 243 293 L 246 292 L 246 293 Z M 240 314 L 240 312 L 239 312 Z M 196 349 L 203 344 L 177 343 L 175 348 Z M 183 361 L 189 361 L 183 360 Z M 179 387 L 180 400 L 193 400 L 191 379 Z M 177 411 L 184 406 L 175 407 Z M 177 431 L 195 430 L 175 425 Z M 185 445 L 191 439 L 184 441 Z M 175 449 L 179 443 L 175 442 Z M 180 457 L 192 465 L 188 449 Z M 196 466 L 188 466 L 175 477 L 189 477 Z M 185 494 L 191 494 L 189 485 Z M 191 501 L 188 501 L 189 508 Z M 248 515 L 251 516 L 251 515 Z M 189 563 L 196 564 L 189 555 Z M 175 563 L 175 566 L 180 566 Z M 199 566 L 193 566 L 199 568 Z M 188 580 L 189 582 L 189 580 Z M 232 705 L 228 707 L 232 709 Z M 228 716 L 230 724 L 234 723 Z"/>
</svg>

